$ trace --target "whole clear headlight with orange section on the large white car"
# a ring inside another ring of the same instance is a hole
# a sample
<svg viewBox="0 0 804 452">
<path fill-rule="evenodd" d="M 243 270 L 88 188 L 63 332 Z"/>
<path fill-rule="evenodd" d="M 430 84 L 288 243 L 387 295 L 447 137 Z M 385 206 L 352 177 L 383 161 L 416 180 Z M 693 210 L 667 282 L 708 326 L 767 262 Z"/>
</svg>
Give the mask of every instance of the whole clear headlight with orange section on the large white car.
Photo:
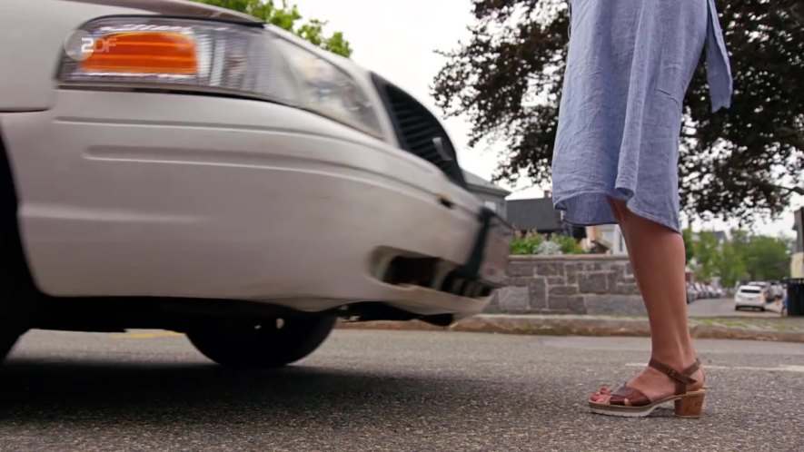
<svg viewBox="0 0 804 452">
<path fill-rule="evenodd" d="M 362 87 L 263 27 L 108 17 L 65 39 L 63 85 L 224 93 L 293 105 L 381 136 Z"/>
</svg>

